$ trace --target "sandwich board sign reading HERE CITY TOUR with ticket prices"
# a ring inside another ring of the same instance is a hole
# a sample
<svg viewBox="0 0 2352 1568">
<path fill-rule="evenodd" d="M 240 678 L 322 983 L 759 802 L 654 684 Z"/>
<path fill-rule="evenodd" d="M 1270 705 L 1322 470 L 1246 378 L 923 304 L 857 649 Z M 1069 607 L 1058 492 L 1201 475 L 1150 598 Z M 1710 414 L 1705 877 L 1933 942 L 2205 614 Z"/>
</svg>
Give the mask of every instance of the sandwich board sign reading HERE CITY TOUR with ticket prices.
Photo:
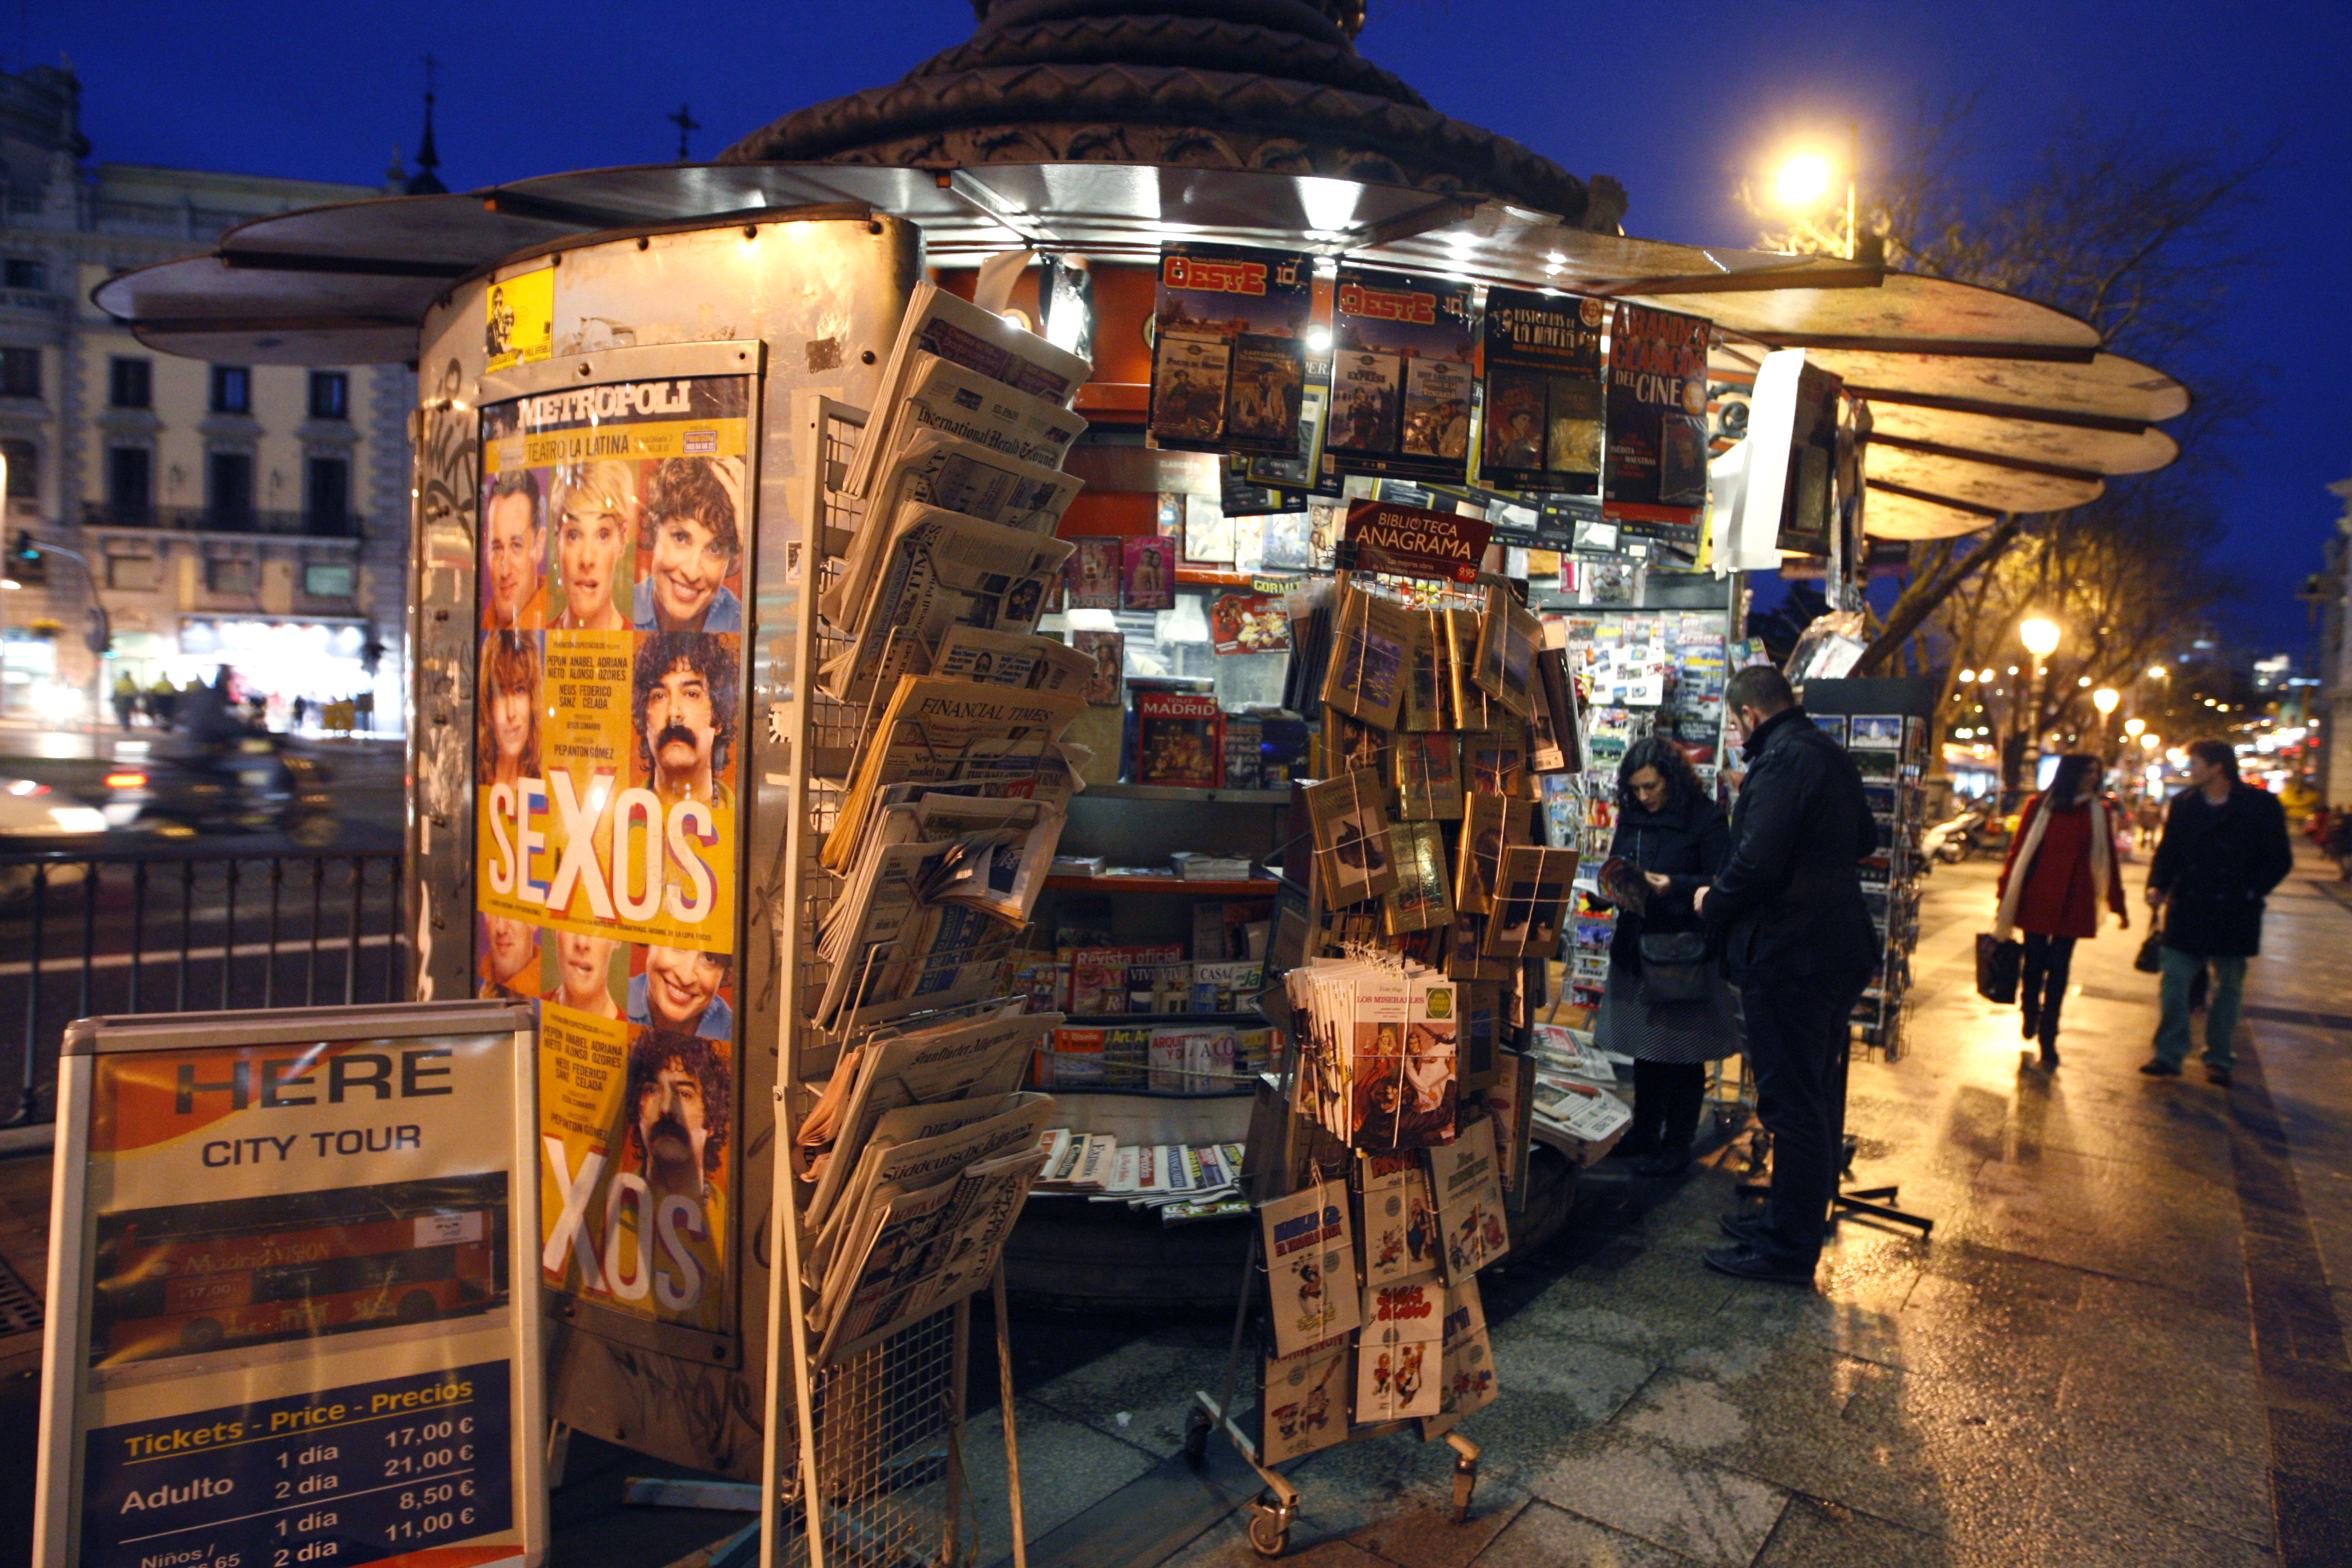
<svg viewBox="0 0 2352 1568">
<path fill-rule="evenodd" d="M 541 1561 L 532 1044 L 508 1001 L 66 1032 L 35 1563 Z"/>
</svg>

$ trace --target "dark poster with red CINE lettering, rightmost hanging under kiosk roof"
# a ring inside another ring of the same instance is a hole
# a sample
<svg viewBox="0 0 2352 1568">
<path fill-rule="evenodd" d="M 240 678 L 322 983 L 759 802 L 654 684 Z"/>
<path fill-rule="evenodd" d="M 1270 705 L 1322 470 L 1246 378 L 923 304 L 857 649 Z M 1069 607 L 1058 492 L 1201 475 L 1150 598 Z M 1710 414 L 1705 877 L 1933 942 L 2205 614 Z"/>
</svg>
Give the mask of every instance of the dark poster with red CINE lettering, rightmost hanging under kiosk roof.
<svg viewBox="0 0 2352 1568">
<path fill-rule="evenodd" d="M 1618 306 L 1609 317 L 1609 454 L 1602 517 L 1625 534 L 1689 538 L 1708 503 L 1708 334 L 1696 315 Z"/>
</svg>

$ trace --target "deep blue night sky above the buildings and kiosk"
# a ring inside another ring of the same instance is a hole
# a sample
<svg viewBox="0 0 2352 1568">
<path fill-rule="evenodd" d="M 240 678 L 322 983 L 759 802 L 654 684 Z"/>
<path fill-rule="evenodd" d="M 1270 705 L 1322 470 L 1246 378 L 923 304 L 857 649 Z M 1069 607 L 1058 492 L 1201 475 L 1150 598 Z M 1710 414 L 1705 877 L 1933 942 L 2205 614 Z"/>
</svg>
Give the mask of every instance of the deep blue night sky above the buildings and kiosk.
<svg viewBox="0 0 2352 1568">
<path fill-rule="evenodd" d="M 906 73 L 962 42 L 962 0 L 863 5 L 506 5 L 268 0 L 19 0 L 0 14 L 9 68 L 68 56 L 92 160 L 376 183 L 419 132 L 421 56 L 440 71 L 442 176 L 473 188 L 529 174 L 659 162 L 682 101 L 696 155 L 793 108 Z M 2013 179 L 2077 110 L 2183 136 L 2284 136 L 2246 214 L 2270 259 L 2216 353 L 2274 367 L 2263 428 L 2237 440 L 2220 505 L 2225 559 L 2249 581 L 2232 616 L 2265 649 L 2307 646 L 2293 602 L 2319 567 L 2352 477 L 2336 367 L 2352 348 L 2352 5 L 2150 0 L 1708 0 L 1604 7 L 1371 0 L 1362 52 L 1437 108 L 1526 141 L 1632 193 L 1628 230 L 1752 242 L 1731 190 L 1795 127 L 1867 143 L 1912 103 L 1983 89 L 1994 139 L 1971 176 Z M 2169 367 L 2173 369 L 2173 367 Z"/>
</svg>

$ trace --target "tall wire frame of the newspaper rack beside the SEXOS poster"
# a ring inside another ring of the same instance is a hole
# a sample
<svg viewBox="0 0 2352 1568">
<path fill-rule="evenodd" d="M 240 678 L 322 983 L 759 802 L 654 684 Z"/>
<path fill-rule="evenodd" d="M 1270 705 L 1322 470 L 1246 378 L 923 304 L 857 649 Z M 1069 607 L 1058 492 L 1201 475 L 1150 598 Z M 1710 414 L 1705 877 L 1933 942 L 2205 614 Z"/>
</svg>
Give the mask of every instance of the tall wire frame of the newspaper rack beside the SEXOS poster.
<svg viewBox="0 0 2352 1568">
<path fill-rule="evenodd" d="M 856 522 L 858 501 L 835 489 L 866 423 L 861 409 L 826 397 L 802 397 L 795 409 L 800 491 L 793 557 L 783 604 L 762 604 L 771 689 L 764 717 L 779 743 L 783 771 L 760 783 L 786 790 L 786 839 L 776 865 L 753 867 L 760 900 L 774 912 L 779 943 L 779 1067 L 776 1140 L 793 1147 L 814 1103 L 811 1070 L 837 1056 L 835 1039 L 807 1023 L 826 992 L 828 964 L 818 931 L 840 879 L 818 865 L 833 830 L 842 785 L 866 719 L 863 703 L 840 703 L 818 691 L 814 675 L 849 639 L 816 614 L 833 581 L 837 541 Z M 833 1366 L 816 1363 L 809 1333 L 804 1251 L 793 1161 L 776 1161 L 769 1248 L 776 1267 L 769 1291 L 767 1455 L 760 1512 L 762 1568 L 840 1568 L 854 1563 L 974 1563 L 983 1559 L 976 1507 L 964 1469 L 964 1368 L 971 1347 L 971 1300 L 957 1300 Z M 1000 1413 L 1011 1502 L 1011 1559 L 1028 1563 L 1021 1521 L 1021 1458 L 1014 1434 L 1011 1347 L 1007 1342 L 1004 1276 L 997 1272 L 997 1366 L 1007 1380 Z"/>
</svg>

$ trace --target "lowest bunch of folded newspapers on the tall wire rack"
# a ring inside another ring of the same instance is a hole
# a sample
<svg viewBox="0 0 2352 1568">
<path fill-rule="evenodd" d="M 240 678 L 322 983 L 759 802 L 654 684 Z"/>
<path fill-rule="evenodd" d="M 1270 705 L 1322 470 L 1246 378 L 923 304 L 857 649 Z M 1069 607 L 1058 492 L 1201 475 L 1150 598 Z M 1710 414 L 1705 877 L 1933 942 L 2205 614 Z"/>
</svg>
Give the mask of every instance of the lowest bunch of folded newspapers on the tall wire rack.
<svg viewBox="0 0 2352 1568">
<path fill-rule="evenodd" d="M 1016 1091 L 1056 1013 L 985 1001 L 866 1030 L 795 1133 L 809 1335 L 833 1363 L 981 1288 L 1044 1164 Z"/>
</svg>

